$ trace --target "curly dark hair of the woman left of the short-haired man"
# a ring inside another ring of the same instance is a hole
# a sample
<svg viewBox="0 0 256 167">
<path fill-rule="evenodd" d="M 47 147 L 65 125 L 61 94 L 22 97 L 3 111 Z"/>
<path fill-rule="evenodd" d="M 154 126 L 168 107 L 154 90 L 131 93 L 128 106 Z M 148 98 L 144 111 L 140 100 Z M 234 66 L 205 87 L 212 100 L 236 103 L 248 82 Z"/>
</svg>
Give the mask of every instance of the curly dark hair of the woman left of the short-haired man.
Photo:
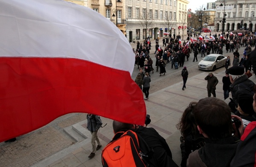
<svg viewBox="0 0 256 167">
<path fill-rule="evenodd" d="M 183 138 L 186 138 L 189 134 L 199 135 L 197 131 L 197 124 L 194 119 L 194 107 L 197 102 L 191 102 L 183 112 L 179 123 L 176 125 L 177 129 L 180 130 Z"/>
</svg>

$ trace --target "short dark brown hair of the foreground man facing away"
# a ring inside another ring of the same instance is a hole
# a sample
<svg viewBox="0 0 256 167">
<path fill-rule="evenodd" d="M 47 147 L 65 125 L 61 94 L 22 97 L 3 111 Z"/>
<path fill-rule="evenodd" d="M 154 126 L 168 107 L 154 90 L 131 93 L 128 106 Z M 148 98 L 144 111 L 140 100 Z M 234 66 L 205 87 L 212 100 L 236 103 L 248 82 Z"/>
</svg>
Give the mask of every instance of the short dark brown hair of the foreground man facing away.
<svg viewBox="0 0 256 167">
<path fill-rule="evenodd" d="M 203 98 L 194 108 L 197 125 L 212 140 L 232 135 L 230 107 L 218 98 Z"/>
</svg>

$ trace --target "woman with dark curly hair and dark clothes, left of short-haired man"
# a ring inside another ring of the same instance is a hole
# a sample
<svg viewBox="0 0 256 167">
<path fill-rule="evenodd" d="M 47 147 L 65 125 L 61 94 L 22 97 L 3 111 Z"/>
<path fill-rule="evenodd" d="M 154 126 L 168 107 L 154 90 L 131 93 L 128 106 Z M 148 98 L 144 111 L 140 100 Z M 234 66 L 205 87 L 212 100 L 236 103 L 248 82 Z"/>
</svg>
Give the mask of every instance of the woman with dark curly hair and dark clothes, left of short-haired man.
<svg viewBox="0 0 256 167">
<path fill-rule="evenodd" d="M 180 166 L 187 166 L 188 155 L 194 150 L 198 150 L 204 145 L 203 135 L 200 135 L 197 130 L 197 124 L 194 119 L 194 107 L 197 102 L 191 102 L 183 112 L 179 123 L 176 125 L 181 132 L 180 149 L 182 154 L 182 161 Z"/>
</svg>

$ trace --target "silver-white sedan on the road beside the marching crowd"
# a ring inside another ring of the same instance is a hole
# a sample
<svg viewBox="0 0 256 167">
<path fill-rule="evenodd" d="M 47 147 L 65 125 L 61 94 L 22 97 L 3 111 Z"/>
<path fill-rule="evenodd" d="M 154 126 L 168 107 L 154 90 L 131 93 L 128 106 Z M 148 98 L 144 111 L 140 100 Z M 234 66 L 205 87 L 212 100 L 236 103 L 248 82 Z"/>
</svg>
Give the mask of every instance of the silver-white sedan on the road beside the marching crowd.
<svg viewBox="0 0 256 167">
<path fill-rule="evenodd" d="M 205 58 L 203 58 L 203 60 L 201 60 L 198 63 L 198 68 L 215 71 L 215 69 L 225 66 L 226 59 L 227 57 L 225 57 L 224 55 L 218 55 L 218 54 L 207 55 Z"/>
</svg>

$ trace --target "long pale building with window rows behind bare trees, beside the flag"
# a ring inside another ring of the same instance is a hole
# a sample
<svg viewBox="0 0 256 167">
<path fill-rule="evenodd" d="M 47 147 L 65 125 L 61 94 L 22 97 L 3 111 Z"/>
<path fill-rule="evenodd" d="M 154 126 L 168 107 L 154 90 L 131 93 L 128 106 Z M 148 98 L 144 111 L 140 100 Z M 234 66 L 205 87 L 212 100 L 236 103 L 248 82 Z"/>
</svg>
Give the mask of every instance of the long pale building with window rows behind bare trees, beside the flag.
<svg viewBox="0 0 256 167">
<path fill-rule="evenodd" d="M 126 35 L 132 42 L 186 33 L 187 0 L 126 0 Z M 179 29 L 180 26 L 180 29 Z M 183 29 L 182 29 L 183 28 Z"/>
</svg>

